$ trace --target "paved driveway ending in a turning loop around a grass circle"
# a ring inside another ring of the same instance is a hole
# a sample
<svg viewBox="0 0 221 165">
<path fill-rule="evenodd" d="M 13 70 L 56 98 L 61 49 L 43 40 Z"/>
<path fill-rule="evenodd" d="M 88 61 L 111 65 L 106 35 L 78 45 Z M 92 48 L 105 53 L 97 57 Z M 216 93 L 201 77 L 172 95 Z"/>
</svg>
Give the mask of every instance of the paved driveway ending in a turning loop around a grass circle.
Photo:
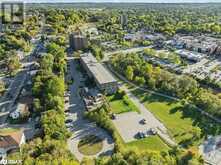
<svg viewBox="0 0 221 165">
<path fill-rule="evenodd" d="M 97 127 L 95 123 L 83 118 L 85 108 L 83 101 L 78 94 L 79 85 L 81 84 L 81 75 L 76 68 L 76 60 L 69 58 L 68 61 L 70 63 L 70 74 L 74 78 L 74 83 L 70 86 L 70 116 L 67 117 L 73 119 L 73 128 L 71 129 L 73 136 L 68 140 L 68 147 L 75 157 L 81 161 L 84 155 L 78 151 L 78 143 L 82 137 L 93 134 L 103 139 L 103 149 L 98 154 L 90 157 L 97 157 L 98 155 L 110 155 L 114 149 L 114 142 L 111 136 L 109 136 L 105 130 Z"/>
</svg>

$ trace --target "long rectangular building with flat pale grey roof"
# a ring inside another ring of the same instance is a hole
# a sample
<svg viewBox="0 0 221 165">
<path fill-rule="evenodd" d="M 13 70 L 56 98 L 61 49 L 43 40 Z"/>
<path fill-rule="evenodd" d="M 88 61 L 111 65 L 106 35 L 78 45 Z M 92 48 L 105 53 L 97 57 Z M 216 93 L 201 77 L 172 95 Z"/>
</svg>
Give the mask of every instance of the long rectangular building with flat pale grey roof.
<svg viewBox="0 0 221 165">
<path fill-rule="evenodd" d="M 97 61 L 91 53 L 82 54 L 80 61 L 90 78 L 93 78 L 97 87 L 105 93 L 112 94 L 118 89 L 117 80 Z"/>
</svg>

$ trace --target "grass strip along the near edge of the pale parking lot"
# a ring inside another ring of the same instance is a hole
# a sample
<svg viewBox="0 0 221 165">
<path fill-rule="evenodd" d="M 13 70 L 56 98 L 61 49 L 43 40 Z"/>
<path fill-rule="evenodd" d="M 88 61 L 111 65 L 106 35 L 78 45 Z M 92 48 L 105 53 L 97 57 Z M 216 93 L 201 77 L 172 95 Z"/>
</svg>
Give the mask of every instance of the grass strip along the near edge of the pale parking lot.
<svg viewBox="0 0 221 165">
<path fill-rule="evenodd" d="M 169 146 L 165 144 L 158 136 L 149 136 L 144 139 L 136 140 L 126 143 L 128 149 L 135 149 L 138 151 L 168 151 Z"/>
</svg>

